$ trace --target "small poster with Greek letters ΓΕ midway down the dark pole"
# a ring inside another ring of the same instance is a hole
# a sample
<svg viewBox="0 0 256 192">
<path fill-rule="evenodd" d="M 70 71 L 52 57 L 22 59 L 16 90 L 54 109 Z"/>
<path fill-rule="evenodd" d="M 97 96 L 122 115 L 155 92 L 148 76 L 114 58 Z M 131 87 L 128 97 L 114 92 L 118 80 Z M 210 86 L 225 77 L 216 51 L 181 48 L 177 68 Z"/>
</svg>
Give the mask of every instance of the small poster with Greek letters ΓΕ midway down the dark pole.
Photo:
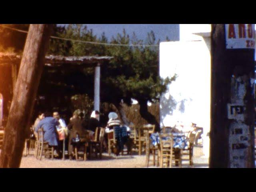
<svg viewBox="0 0 256 192">
<path fill-rule="evenodd" d="M 228 119 L 243 121 L 245 110 L 244 105 L 228 103 Z"/>
</svg>

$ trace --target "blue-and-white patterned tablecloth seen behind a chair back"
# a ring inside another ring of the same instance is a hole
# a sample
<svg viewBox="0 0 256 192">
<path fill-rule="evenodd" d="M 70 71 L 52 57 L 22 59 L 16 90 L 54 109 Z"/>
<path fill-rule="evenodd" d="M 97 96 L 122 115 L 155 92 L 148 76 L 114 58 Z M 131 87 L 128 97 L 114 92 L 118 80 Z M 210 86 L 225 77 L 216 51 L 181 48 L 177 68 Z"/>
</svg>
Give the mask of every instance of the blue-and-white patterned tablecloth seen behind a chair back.
<svg viewBox="0 0 256 192">
<path fill-rule="evenodd" d="M 168 139 L 168 138 L 166 138 Z M 150 136 L 152 145 L 156 146 L 160 144 L 159 133 L 153 133 Z M 185 134 L 173 133 L 173 148 L 187 149 L 188 141 L 186 140 Z"/>
</svg>

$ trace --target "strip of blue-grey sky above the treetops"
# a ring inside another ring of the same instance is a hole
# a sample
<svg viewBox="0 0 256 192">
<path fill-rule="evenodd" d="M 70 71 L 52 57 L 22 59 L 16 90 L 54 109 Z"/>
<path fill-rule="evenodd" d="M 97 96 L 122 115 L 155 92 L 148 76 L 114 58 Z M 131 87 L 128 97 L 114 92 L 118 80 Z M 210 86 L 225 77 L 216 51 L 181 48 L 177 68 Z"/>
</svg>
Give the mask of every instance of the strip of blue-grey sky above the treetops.
<svg viewBox="0 0 256 192">
<path fill-rule="evenodd" d="M 65 24 L 60 24 L 65 25 Z M 123 29 L 126 30 L 130 36 L 135 32 L 138 39 L 146 40 L 147 33 L 151 30 L 154 31 L 156 39 L 165 41 L 166 36 L 172 41 L 179 40 L 179 24 L 85 24 L 88 29 L 92 29 L 94 34 L 101 36 L 105 32 L 108 40 L 118 33 L 122 33 Z"/>
</svg>

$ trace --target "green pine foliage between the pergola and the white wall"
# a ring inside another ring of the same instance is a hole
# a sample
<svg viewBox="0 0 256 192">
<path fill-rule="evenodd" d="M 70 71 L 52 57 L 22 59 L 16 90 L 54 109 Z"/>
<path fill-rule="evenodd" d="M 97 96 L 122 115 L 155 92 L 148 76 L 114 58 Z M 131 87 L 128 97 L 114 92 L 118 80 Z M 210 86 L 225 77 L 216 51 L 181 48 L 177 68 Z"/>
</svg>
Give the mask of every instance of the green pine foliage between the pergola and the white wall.
<svg viewBox="0 0 256 192">
<path fill-rule="evenodd" d="M 130 38 L 125 30 L 108 42 L 104 33 L 98 38 L 92 30 L 80 24 L 70 24 L 66 28 L 56 27 L 55 35 L 90 42 L 159 45 L 159 40 L 156 41 L 153 31 L 148 33 L 146 42 L 138 40 L 135 33 Z M 105 46 L 52 39 L 48 53 L 65 56 L 113 56 L 110 64 L 101 67 L 102 102 L 119 103 L 123 99 L 126 104 L 130 105 L 131 98 L 156 102 L 161 93 L 166 91 L 166 86 L 176 78 L 176 76 L 160 78 L 158 46 Z M 93 70 L 84 69 L 83 74 L 87 76 L 87 79 L 94 78 Z M 85 91 L 92 98 L 93 84 L 88 84 L 87 88 Z"/>
</svg>

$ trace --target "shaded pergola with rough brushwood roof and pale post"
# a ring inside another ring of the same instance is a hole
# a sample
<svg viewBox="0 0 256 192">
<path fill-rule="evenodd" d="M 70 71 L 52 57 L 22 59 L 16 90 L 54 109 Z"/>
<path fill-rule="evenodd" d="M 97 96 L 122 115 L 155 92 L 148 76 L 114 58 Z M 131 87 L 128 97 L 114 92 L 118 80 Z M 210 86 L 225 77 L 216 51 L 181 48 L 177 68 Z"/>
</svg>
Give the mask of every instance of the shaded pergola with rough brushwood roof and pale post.
<svg viewBox="0 0 256 192">
<path fill-rule="evenodd" d="M 8 115 L 8 104 L 12 99 L 13 90 L 18 76 L 22 56 L 15 53 L 0 53 L 0 93 L 4 98 L 3 111 Z M 94 110 L 100 109 L 100 66 L 108 64 L 110 56 L 53 56 L 45 57 L 44 72 L 38 89 L 38 99 L 50 96 L 55 102 L 56 95 L 85 92 L 88 82 L 82 77 L 83 70 L 94 70 Z M 67 73 L 73 72 L 72 76 Z M 77 75 L 76 75 L 77 74 Z M 90 80 L 92 82 L 92 80 Z M 77 84 L 78 86 L 74 86 Z"/>
</svg>

